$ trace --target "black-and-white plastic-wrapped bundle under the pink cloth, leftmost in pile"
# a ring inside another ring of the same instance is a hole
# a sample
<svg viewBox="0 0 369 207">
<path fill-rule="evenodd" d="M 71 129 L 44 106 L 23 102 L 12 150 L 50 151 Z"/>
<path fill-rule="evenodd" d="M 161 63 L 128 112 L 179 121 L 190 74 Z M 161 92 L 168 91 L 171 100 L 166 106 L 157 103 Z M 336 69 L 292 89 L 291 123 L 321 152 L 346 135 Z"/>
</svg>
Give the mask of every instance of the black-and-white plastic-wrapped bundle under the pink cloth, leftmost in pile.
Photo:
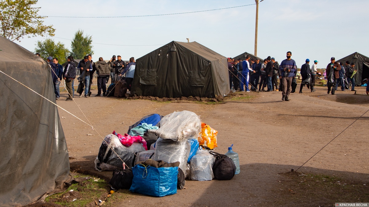
<svg viewBox="0 0 369 207">
<path fill-rule="evenodd" d="M 141 143 L 133 143 L 131 147 L 123 145 L 119 138 L 114 134 L 107 135 L 104 140 L 117 154 L 111 150 L 110 147 L 103 141 L 100 146 L 99 154 L 95 160 L 95 168 L 98 171 L 113 171 L 114 169 L 123 169 L 123 162 L 128 166 L 132 167 L 134 154 L 136 152 L 145 151 L 145 148 Z"/>
</svg>

